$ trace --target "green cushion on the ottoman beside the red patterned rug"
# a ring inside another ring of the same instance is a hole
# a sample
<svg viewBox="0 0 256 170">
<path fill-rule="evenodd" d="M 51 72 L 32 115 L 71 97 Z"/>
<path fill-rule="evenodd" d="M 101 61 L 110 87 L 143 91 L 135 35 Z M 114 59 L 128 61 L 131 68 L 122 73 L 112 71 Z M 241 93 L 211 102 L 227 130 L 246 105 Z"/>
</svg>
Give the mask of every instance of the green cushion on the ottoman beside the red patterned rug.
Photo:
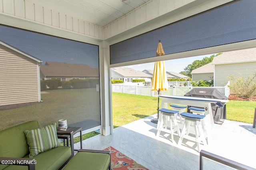
<svg viewBox="0 0 256 170">
<path fill-rule="evenodd" d="M 63 170 L 107 170 L 109 163 L 109 154 L 78 152 Z"/>
</svg>

